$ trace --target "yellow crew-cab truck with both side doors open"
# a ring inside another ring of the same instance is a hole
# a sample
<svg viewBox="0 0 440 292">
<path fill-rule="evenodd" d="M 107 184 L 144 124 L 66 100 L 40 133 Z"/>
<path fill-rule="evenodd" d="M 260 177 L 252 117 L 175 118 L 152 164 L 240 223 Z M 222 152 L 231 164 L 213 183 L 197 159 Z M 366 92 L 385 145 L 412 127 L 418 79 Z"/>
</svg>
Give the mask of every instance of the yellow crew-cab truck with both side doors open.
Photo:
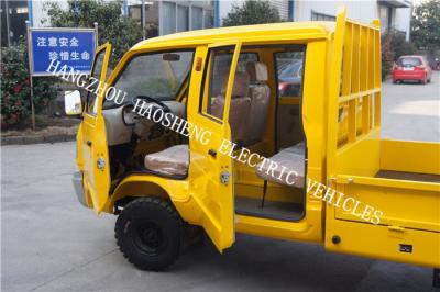
<svg viewBox="0 0 440 292">
<path fill-rule="evenodd" d="M 438 284 L 440 144 L 381 138 L 378 21 L 341 9 L 336 22 L 160 36 L 111 74 L 110 56 L 97 49 L 98 94 L 66 98 L 82 119 L 74 186 L 85 206 L 119 216 L 134 266 L 169 267 L 199 231 L 220 252 L 245 233 L 431 267 Z M 330 204 L 317 186 L 353 200 Z"/>
</svg>

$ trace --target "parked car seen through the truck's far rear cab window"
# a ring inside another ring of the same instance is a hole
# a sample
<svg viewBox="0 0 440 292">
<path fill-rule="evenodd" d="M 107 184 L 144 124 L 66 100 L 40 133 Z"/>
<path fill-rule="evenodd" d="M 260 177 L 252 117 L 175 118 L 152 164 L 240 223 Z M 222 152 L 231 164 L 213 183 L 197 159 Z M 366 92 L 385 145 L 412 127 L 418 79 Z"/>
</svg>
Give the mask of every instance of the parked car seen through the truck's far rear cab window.
<svg viewBox="0 0 440 292">
<path fill-rule="evenodd" d="M 302 79 L 302 61 L 289 63 L 278 69 L 279 97 L 298 97 Z"/>
</svg>

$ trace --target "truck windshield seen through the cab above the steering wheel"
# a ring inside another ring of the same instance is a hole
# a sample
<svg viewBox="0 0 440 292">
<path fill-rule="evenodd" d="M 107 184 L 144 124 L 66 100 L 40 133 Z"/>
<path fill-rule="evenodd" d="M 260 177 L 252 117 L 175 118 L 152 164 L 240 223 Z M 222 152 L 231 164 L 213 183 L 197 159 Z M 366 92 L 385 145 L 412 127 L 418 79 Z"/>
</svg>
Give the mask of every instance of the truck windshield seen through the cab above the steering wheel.
<svg viewBox="0 0 440 292">
<path fill-rule="evenodd" d="M 140 55 L 130 60 L 113 87 L 127 92 L 124 103 L 138 96 L 160 101 L 175 100 L 193 64 L 194 52 L 166 52 Z M 114 100 L 105 100 L 103 108 L 114 108 Z"/>
</svg>

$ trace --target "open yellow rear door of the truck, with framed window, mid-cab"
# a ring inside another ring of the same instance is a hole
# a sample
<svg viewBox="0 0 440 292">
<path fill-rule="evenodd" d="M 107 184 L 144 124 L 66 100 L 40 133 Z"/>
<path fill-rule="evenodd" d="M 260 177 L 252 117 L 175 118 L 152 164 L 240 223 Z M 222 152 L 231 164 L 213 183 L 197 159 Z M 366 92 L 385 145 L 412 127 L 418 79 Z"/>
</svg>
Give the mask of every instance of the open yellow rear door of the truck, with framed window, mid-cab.
<svg viewBox="0 0 440 292">
<path fill-rule="evenodd" d="M 189 100 L 200 102 L 189 103 L 188 120 L 210 132 L 209 141 L 189 141 L 189 192 L 204 216 L 202 227 L 220 251 L 235 239 L 233 164 L 220 147 L 231 141 L 229 109 L 240 48 L 240 43 L 198 48 L 189 90 Z"/>
</svg>

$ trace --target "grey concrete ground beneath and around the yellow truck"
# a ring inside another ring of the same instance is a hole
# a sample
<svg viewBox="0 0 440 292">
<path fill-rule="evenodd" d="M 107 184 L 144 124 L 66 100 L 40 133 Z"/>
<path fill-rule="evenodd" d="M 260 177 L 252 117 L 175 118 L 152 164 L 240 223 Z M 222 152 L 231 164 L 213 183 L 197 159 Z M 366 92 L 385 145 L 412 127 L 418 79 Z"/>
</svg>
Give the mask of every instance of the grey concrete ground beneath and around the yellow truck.
<svg viewBox="0 0 440 292">
<path fill-rule="evenodd" d="M 386 82 L 383 111 L 385 137 L 438 142 L 439 74 Z M 77 202 L 73 142 L 1 150 L 3 291 L 433 291 L 431 269 L 248 235 L 224 255 L 208 244 L 167 272 L 140 271 L 116 246 L 116 216 Z"/>
</svg>

